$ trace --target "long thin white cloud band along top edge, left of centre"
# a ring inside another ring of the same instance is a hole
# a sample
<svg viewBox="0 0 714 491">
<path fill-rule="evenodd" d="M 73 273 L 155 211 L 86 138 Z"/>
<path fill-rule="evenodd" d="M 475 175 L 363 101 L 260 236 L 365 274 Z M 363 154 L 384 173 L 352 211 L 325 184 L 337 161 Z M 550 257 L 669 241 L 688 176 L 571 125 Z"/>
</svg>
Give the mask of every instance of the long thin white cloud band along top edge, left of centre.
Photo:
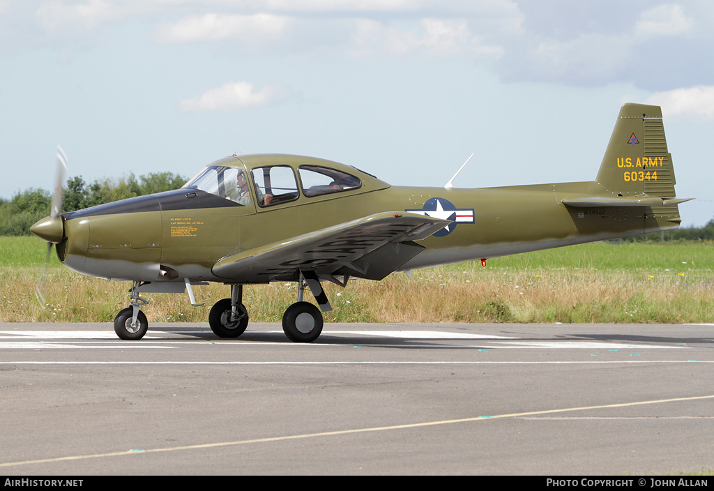
<svg viewBox="0 0 714 491">
<path fill-rule="evenodd" d="M 161 44 L 237 40 L 278 53 L 493 58 L 503 54 L 493 39 L 520 31 L 523 15 L 513 0 L 48 0 L 36 19 L 49 34 L 143 19 Z"/>
</svg>

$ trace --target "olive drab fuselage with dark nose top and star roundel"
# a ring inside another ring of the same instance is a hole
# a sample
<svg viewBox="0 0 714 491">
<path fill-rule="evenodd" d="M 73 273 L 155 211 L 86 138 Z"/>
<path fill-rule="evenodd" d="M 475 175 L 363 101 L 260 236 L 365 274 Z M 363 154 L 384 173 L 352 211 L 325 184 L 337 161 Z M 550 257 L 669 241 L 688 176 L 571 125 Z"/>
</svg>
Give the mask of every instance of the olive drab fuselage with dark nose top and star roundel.
<svg viewBox="0 0 714 491">
<path fill-rule="evenodd" d="M 508 188 L 401 187 L 356 168 L 297 156 L 231 156 L 208 168 L 253 176 L 248 204 L 231 199 L 228 178 L 206 178 L 165 193 L 129 198 L 64 213 L 62 263 L 86 275 L 144 282 L 219 281 L 249 283 L 216 275 L 213 265 L 228 255 L 291 241 L 313 231 L 374 213 L 416 213 L 451 221 L 420 241 L 424 250 L 398 270 L 568 246 L 675 228 L 648 208 L 565 206 L 563 199 L 605 193 L 598 183 L 560 183 Z M 358 179 L 329 192 L 309 186 L 305 169 Z M 266 170 L 267 169 L 267 170 Z M 268 171 L 281 171 L 273 177 Z M 328 172 L 329 171 L 329 172 Z M 212 171 L 215 172 L 215 171 Z M 211 174 L 212 175 L 212 174 Z M 295 188 L 276 186 L 293 176 Z M 203 174 L 202 176 L 206 176 Z M 265 176 L 267 182 L 263 182 Z M 247 179 L 246 179 L 247 181 Z M 205 187 L 205 186 L 203 186 Z M 237 188 L 236 188 L 237 189 Z M 281 191 L 282 190 L 282 191 Z M 238 190 L 239 191 L 239 190 Z M 269 192 L 268 192 L 269 191 Z M 284 192 L 283 192 L 284 191 Z M 268 201 L 263 203 L 258 200 Z M 284 200 L 284 201 L 283 201 Z"/>
</svg>

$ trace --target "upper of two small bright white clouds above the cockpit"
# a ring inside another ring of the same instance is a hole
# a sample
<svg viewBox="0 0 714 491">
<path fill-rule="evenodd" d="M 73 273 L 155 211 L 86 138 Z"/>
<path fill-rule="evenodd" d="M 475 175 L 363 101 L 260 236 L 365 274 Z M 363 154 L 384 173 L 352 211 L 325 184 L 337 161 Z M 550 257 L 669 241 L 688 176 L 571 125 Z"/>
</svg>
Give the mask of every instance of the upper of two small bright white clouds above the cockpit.
<svg viewBox="0 0 714 491">
<path fill-rule="evenodd" d="M 231 38 L 261 41 L 278 38 L 290 24 L 290 18 L 273 14 L 203 14 L 185 17 L 175 24 L 159 26 L 156 41 L 187 43 Z"/>
</svg>

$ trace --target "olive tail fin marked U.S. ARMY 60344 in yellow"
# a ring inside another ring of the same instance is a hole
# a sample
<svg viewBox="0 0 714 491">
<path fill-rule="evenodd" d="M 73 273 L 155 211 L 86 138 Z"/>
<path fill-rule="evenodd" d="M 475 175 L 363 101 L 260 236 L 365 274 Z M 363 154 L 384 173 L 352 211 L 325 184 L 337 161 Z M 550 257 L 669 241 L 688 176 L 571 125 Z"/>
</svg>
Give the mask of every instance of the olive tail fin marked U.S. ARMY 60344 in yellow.
<svg viewBox="0 0 714 491">
<path fill-rule="evenodd" d="M 620 108 L 597 182 L 615 196 L 674 198 L 674 168 L 659 106 Z"/>
</svg>

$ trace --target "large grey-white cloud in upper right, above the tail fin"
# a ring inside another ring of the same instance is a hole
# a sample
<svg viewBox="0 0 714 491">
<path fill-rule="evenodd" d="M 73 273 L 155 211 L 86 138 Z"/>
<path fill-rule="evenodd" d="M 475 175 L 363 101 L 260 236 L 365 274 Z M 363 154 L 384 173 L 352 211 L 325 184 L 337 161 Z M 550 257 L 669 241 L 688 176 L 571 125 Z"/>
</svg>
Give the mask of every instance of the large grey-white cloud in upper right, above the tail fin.
<svg viewBox="0 0 714 491">
<path fill-rule="evenodd" d="M 712 80 L 714 66 L 702 61 L 714 41 L 711 4 L 653 2 L 640 13 L 637 6 L 616 0 L 555 0 L 553 21 L 539 10 L 540 3 L 519 2 L 526 16 L 521 35 L 493 37 L 504 46 L 493 64 L 504 80 L 634 83 L 650 91 Z"/>
</svg>

